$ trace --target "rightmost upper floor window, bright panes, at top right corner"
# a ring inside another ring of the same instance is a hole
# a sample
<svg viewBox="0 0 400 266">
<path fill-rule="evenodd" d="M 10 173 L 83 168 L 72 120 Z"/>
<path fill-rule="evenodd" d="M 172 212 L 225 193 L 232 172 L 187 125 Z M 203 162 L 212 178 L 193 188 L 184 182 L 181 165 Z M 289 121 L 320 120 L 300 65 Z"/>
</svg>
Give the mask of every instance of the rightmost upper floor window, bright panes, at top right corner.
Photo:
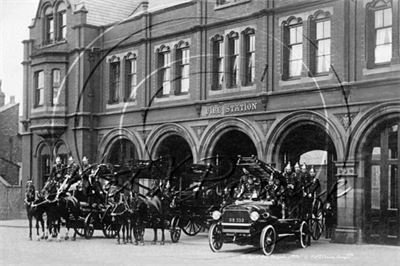
<svg viewBox="0 0 400 266">
<path fill-rule="evenodd" d="M 367 5 L 367 9 L 368 66 L 390 63 L 393 23 L 391 1 L 377 1 Z"/>
</svg>

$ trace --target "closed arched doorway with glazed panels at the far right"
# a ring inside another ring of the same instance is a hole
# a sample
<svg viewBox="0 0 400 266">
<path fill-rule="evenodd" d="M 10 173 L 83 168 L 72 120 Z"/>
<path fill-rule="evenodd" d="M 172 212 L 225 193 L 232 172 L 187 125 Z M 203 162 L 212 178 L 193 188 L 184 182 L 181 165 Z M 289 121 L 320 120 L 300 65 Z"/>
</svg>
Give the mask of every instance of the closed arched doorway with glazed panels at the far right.
<svg viewBox="0 0 400 266">
<path fill-rule="evenodd" d="M 365 238 L 370 243 L 400 244 L 400 121 L 376 127 L 363 148 L 365 162 Z"/>
</svg>

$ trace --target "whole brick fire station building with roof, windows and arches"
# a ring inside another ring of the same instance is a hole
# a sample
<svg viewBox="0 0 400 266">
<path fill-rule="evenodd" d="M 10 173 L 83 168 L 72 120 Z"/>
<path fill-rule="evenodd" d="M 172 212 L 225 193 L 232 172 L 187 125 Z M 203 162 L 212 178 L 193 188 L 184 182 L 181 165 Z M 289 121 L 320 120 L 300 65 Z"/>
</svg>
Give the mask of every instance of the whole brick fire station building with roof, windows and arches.
<svg viewBox="0 0 400 266">
<path fill-rule="evenodd" d="M 41 0 L 23 42 L 22 176 L 41 186 L 70 154 L 305 162 L 325 189 L 346 180 L 333 241 L 399 245 L 399 7 Z"/>
</svg>

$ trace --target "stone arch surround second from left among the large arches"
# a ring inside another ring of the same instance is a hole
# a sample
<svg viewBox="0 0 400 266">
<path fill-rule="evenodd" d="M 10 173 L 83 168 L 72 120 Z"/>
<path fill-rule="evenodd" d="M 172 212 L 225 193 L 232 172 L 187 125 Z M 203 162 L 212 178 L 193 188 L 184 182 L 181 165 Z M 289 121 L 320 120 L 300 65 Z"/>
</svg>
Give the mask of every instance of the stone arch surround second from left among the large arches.
<svg viewBox="0 0 400 266">
<path fill-rule="evenodd" d="M 196 162 L 198 160 L 198 150 L 195 137 L 186 127 L 175 123 L 160 125 L 149 134 L 145 143 L 145 156 L 153 157 L 155 155 L 158 145 L 165 138 L 172 135 L 178 135 L 182 137 L 189 144 L 192 151 L 193 161 Z"/>
</svg>

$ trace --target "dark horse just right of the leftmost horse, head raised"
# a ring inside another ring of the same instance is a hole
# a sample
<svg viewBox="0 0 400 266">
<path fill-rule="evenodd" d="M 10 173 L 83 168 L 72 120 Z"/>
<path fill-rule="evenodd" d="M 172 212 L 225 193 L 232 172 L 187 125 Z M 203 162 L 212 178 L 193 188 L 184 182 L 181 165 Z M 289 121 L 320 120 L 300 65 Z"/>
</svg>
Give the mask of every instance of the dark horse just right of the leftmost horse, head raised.
<svg viewBox="0 0 400 266">
<path fill-rule="evenodd" d="M 69 239 L 69 229 L 74 229 L 74 235 L 72 240 L 76 239 L 76 223 L 79 220 L 80 205 L 79 201 L 69 193 L 61 190 L 57 190 L 57 182 L 49 181 L 45 188 L 50 193 L 47 195 L 48 208 L 47 208 L 47 219 L 49 225 L 49 231 L 53 230 L 53 236 L 58 235 L 58 240 L 61 240 L 60 226 L 61 220 L 65 220 L 66 234 L 65 240 Z M 54 193 L 56 191 L 56 193 Z"/>
</svg>

